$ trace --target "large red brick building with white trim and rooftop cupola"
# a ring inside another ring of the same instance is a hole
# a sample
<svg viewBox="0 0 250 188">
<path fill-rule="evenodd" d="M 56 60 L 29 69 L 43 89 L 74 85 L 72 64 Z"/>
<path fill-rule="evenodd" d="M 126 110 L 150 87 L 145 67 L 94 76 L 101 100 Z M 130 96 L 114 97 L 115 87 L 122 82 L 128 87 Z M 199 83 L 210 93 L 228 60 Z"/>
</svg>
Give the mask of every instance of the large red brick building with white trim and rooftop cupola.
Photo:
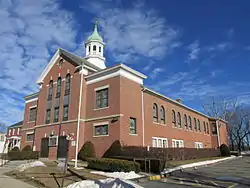
<svg viewBox="0 0 250 188">
<path fill-rule="evenodd" d="M 227 144 L 227 123 L 208 117 L 143 85 L 147 76 L 124 64 L 106 68 L 104 42 L 97 32 L 85 43 L 86 56 L 58 49 L 37 80 L 40 89 L 25 97 L 21 147 L 41 157 L 69 157 L 86 141 L 98 156 L 123 145 L 216 148 Z"/>
</svg>

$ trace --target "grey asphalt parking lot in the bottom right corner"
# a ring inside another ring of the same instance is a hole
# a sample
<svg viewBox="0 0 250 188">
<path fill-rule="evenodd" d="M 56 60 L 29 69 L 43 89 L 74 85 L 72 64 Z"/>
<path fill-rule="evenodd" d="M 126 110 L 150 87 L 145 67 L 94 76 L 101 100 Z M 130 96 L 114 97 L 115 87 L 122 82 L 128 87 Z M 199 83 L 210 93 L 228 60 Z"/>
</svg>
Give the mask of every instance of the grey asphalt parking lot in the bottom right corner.
<svg viewBox="0 0 250 188">
<path fill-rule="evenodd" d="M 244 156 L 233 160 L 228 160 L 207 167 L 197 169 L 186 169 L 183 172 L 175 172 L 170 176 L 176 181 L 148 181 L 141 183 L 145 188 L 155 187 L 209 187 L 203 183 L 220 185 L 228 188 L 250 187 L 250 156 Z M 180 181 L 181 180 L 181 181 Z M 191 181 L 197 181 L 197 183 Z M 173 183 L 174 182 L 174 183 Z M 187 185 L 183 184 L 187 183 Z"/>
</svg>

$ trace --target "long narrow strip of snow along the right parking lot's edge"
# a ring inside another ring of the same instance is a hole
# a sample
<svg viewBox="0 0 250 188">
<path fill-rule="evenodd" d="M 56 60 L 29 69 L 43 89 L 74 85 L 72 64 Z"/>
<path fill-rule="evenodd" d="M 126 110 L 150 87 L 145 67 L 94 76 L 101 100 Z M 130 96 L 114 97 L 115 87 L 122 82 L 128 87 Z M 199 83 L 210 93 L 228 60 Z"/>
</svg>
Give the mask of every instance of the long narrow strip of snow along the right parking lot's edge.
<svg viewBox="0 0 250 188">
<path fill-rule="evenodd" d="M 192 168 L 192 167 L 197 167 L 197 166 L 205 166 L 205 165 L 214 164 L 214 163 L 218 163 L 218 162 L 221 162 L 221 161 L 234 159 L 234 158 L 236 158 L 236 156 L 225 157 L 223 159 L 206 160 L 206 161 L 201 161 L 201 162 L 196 162 L 196 163 L 185 164 L 185 165 L 177 166 L 175 168 L 165 169 L 162 172 L 162 174 L 167 174 L 167 173 L 177 171 L 177 170 L 181 170 L 181 169 L 185 169 L 185 168 Z"/>
</svg>

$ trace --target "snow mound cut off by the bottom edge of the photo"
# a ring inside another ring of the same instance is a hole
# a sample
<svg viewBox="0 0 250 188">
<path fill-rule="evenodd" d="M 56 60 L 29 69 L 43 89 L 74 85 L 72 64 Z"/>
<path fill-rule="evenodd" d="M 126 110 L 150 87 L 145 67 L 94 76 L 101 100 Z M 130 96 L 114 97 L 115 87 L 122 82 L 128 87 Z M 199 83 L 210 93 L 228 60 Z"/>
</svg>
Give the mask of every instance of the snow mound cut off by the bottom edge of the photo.
<svg viewBox="0 0 250 188">
<path fill-rule="evenodd" d="M 119 178 L 112 179 L 107 178 L 104 180 L 84 180 L 76 182 L 67 186 L 67 188 L 143 188 L 140 185 L 137 185 L 129 180 L 121 180 Z"/>
</svg>

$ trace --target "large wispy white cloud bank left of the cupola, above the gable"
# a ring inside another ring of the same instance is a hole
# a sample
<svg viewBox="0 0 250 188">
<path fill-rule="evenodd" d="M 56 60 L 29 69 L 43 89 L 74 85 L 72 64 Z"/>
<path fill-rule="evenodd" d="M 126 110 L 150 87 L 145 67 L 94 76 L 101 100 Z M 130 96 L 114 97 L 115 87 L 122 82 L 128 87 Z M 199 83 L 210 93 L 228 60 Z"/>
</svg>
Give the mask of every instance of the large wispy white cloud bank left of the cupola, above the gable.
<svg viewBox="0 0 250 188">
<path fill-rule="evenodd" d="M 57 0 L 0 1 L 1 121 L 23 118 L 20 101 L 37 90 L 34 80 L 55 52 L 51 47 L 77 47 L 72 16 Z"/>
</svg>

